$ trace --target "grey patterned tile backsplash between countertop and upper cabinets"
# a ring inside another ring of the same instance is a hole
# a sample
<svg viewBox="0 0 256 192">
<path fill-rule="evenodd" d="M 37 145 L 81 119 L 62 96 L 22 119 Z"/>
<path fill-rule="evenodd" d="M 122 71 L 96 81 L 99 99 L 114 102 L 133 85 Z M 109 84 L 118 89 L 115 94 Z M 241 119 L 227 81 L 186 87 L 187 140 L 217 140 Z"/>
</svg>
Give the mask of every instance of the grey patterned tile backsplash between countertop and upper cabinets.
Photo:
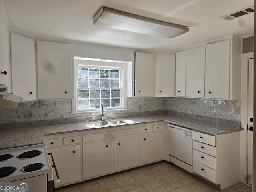
<svg viewBox="0 0 256 192">
<path fill-rule="evenodd" d="M 0 109 L 0 123 L 27 122 L 36 120 L 51 120 L 72 117 L 94 118 L 101 115 L 99 112 L 86 112 L 71 114 L 72 100 L 38 100 L 20 102 L 18 108 Z M 142 110 L 137 110 L 137 105 L 142 105 Z M 166 110 L 240 121 L 240 114 L 234 113 L 234 106 L 240 106 L 240 101 L 209 100 L 195 98 L 159 98 L 140 97 L 127 98 L 127 109 L 106 111 L 108 118 L 143 115 L 151 111 L 164 112 Z M 28 118 L 32 111 L 34 118 Z"/>
</svg>

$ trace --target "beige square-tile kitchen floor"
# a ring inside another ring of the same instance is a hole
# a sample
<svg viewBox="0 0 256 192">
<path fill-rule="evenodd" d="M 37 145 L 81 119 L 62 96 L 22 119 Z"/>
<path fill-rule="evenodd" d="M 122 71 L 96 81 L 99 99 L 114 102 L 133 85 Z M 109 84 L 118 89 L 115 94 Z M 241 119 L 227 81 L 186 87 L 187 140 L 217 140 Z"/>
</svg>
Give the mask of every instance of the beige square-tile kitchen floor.
<svg viewBox="0 0 256 192">
<path fill-rule="evenodd" d="M 58 188 L 56 192 L 217 192 L 216 188 L 172 163 L 161 161 Z M 252 192 L 241 182 L 222 192 Z"/>
</svg>

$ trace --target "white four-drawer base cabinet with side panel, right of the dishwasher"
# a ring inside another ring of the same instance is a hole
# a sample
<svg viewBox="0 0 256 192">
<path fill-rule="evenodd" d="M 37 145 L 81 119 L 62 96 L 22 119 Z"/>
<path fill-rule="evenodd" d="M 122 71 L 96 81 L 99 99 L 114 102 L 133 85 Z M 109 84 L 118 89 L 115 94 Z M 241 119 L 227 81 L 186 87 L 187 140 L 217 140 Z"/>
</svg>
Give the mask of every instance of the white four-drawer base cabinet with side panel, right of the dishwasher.
<svg viewBox="0 0 256 192">
<path fill-rule="evenodd" d="M 216 136 L 192 131 L 192 141 L 194 173 L 221 190 L 239 182 L 239 131 Z"/>
</svg>

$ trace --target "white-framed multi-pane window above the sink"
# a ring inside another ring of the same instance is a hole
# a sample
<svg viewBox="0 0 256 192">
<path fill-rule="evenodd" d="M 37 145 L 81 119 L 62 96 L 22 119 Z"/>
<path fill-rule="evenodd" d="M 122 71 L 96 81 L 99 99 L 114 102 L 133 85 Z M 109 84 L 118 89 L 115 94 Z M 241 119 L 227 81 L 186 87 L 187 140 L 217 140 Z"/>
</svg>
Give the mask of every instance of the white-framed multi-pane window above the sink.
<svg viewBox="0 0 256 192">
<path fill-rule="evenodd" d="M 74 60 L 73 112 L 122 109 L 126 104 L 124 63 Z"/>
</svg>

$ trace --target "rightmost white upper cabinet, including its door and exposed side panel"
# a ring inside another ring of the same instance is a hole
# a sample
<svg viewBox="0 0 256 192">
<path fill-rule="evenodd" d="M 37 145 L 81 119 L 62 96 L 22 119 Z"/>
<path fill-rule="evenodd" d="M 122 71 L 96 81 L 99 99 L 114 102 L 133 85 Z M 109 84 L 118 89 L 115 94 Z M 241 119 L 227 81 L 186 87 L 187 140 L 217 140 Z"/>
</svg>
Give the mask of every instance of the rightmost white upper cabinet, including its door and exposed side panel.
<svg viewBox="0 0 256 192">
<path fill-rule="evenodd" d="M 240 100 L 241 39 L 206 45 L 205 97 Z"/>
</svg>

